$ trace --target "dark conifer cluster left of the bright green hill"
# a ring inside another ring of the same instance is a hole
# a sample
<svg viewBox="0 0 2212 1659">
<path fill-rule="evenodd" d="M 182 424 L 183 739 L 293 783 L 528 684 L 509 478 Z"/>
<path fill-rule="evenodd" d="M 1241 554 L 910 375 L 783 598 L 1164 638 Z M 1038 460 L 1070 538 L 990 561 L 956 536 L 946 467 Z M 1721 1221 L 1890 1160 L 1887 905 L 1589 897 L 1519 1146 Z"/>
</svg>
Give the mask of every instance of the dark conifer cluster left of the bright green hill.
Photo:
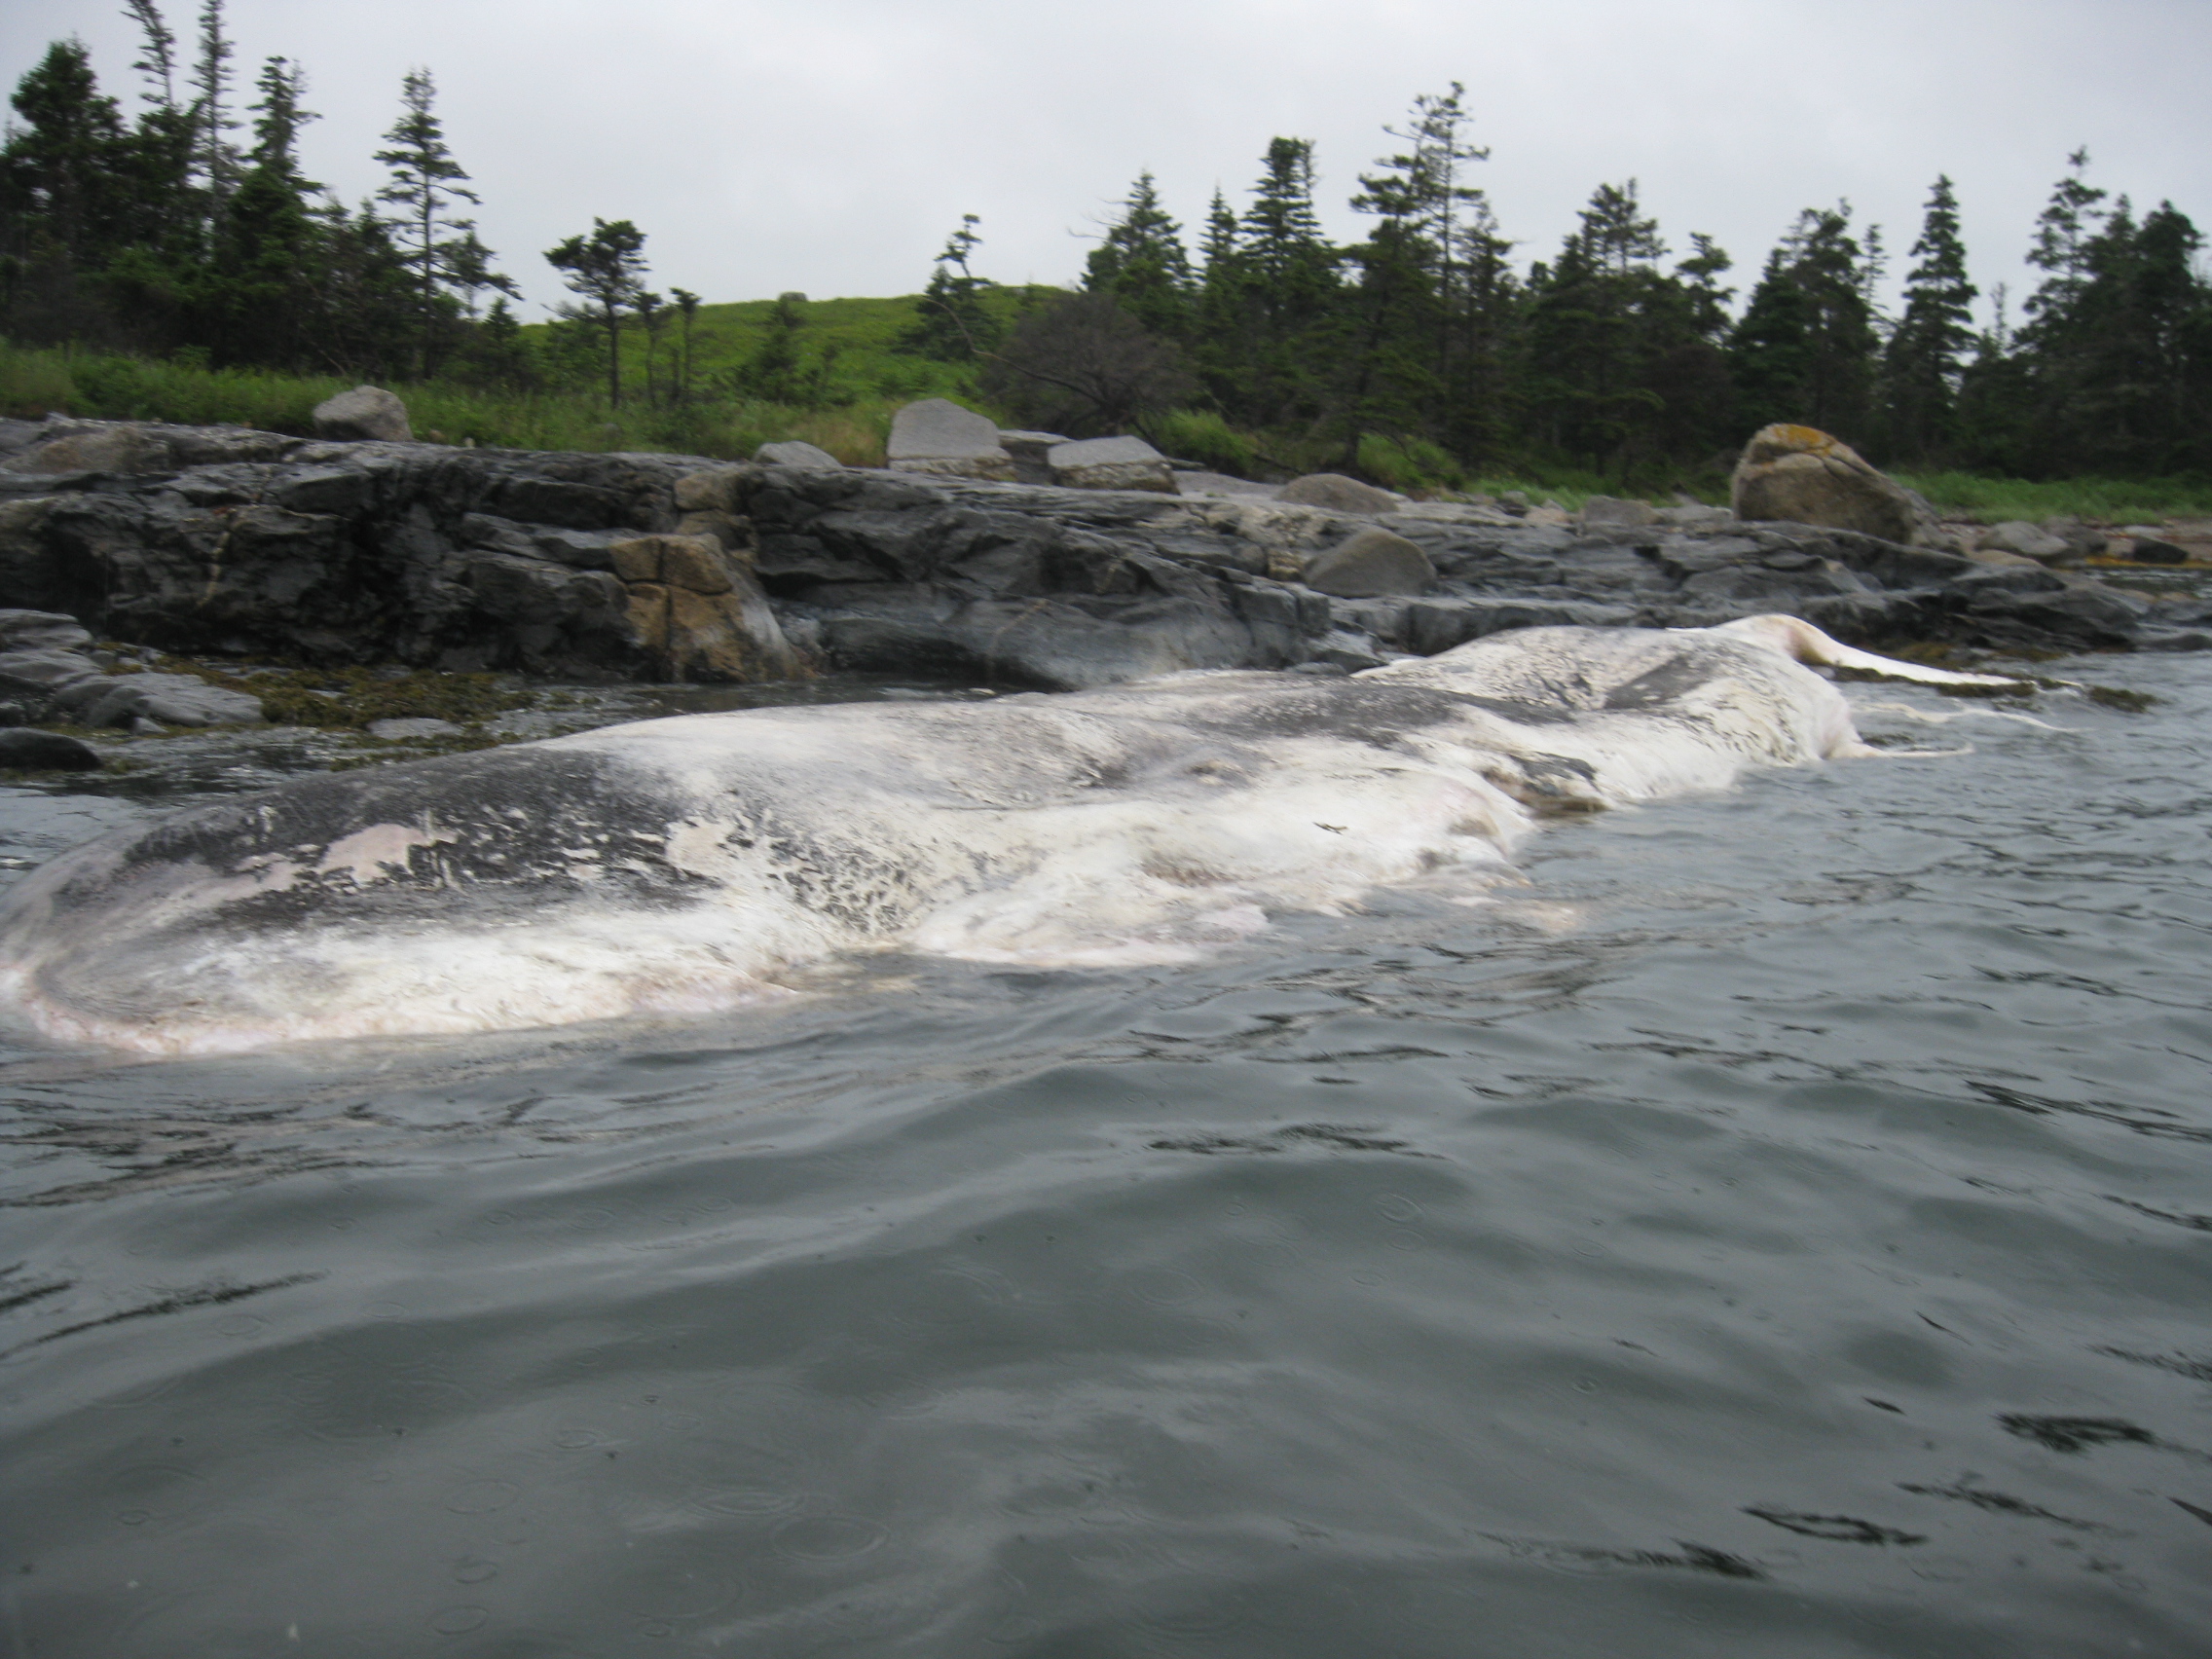
<svg viewBox="0 0 2212 1659">
<path fill-rule="evenodd" d="M 641 321 L 648 398 L 684 389 L 699 296 L 646 290 L 644 234 L 628 221 L 595 219 L 546 250 L 577 301 L 564 330 L 524 341 L 515 283 L 476 234 L 478 195 L 427 69 L 403 80 L 376 150 L 389 181 L 347 208 L 301 173 L 299 135 L 319 117 L 299 64 L 270 58 L 248 91 L 223 0 L 204 0 L 190 42 L 155 0 L 124 9 L 142 44 L 135 113 L 100 91 L 77 40 L 53 42 L 11 97 L 0 334 L 212 367 L 513 387 L 606 365 L 619 403 L 622 325 Z"/>
</svg>

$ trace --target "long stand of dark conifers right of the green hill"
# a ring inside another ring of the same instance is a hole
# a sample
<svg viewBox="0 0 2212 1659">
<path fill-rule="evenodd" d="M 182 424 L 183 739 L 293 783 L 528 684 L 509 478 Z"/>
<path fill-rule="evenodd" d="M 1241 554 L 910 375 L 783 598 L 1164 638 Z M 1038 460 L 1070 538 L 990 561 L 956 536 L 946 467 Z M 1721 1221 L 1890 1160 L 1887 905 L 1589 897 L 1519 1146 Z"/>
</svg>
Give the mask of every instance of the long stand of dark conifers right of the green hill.
<svg viewBox="0 0 2212 1659">
<path fill-rule="evenodd" d="M 2068 159 L 2033 230 L 2042 281 L 2015 325 L 1975 327 L 1951 179 L 1929 188 L 1902 303 L 1880 230 L 1807 208 L 1743 305 L 1710 237 L 1670 252 L 1637 181 L 1599 186 L 1526 274 L 1471 181 L 1464 88 L 1413 100 L 1398 150 L 1360 175 L 1369 234 L 1336 246 L 1314 146 L 1267 146 L 1248 204 L 1219 192 L 1192 248 L 1152 175 L 1093 250 L 1082 294 L 1004 334 L 978 310 L 973 219 L 927 303 L 940 349 L 1062 425 L 1203 403 L 1254 431 L 1327 440 L 1356 469 L 1374 438 L 1467 469 L 1542 458 L 1608 476 L 1694 467 L 1770 420 L 1836 431 L 1891 465 L 2024 478 L 2212 471 L 2212 285 L 2172 204 L 2137 212 Z"/>
</svg>

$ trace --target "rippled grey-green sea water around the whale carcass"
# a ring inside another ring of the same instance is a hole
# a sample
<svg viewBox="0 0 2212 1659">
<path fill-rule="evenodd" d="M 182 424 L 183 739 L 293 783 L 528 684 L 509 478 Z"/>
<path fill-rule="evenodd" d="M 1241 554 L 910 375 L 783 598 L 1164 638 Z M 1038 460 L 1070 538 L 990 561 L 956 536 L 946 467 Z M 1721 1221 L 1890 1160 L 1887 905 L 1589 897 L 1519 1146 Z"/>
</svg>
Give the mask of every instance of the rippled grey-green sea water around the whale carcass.
<svg viewBox="0 0 2212 1659">
<path fill-rule="evenodd" d="M 2194 1659 L 2212 659 L 2046 672 L 1197 967 L 4 1048 L 0 1652 Z M 0 869 L 321 750 L 166 754 Z"/>
</svg>

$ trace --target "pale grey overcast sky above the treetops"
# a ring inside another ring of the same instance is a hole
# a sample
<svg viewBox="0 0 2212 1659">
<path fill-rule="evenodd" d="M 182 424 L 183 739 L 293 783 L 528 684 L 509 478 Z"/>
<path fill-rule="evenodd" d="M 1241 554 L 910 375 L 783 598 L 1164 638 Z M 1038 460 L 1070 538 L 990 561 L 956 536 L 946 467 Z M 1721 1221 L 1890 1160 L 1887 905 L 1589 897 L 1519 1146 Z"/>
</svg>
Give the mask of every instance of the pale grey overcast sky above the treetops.
<svg viewBox="0 0 2212 1659">
<path fill-rule="evenodd" d="M 197 9 L 164 7 L 179 35 Z M 1383 126 L 1453 80 L 1524 265 L 1597 184 L 1635 177 L 1674 252 L 1710 232 L 1743 290 L 1801 208 L 1849 197 L 1885 228 L 1893 285 L 1949 173 L 1975 281 L 2017 305 L 2077 146 L 2093 184 L 2212 230 L 2212 0 L 230 0 L 228 18 L 241 86 L 268 55 L 307 69 L 305 168 L 349 201 L 383 184 L 369 155 L 427 64 L 526 316 L 560 299 L 542 250 L 593 217 L 637 221 L 655 285 L 708 301 L 914 292 L 964 212 L 978 274 L 1064 283 L 1139 170 L 1194 241 L 1214 186 L 1243 206 L 1274 135 L 1316 142 L 1325 226 L 1354 239 L 1345 197 L 1391 148 Z M 71 33 L 135 100 L 117 0 L 4 0 L 0 75 Z"/>
</svg>

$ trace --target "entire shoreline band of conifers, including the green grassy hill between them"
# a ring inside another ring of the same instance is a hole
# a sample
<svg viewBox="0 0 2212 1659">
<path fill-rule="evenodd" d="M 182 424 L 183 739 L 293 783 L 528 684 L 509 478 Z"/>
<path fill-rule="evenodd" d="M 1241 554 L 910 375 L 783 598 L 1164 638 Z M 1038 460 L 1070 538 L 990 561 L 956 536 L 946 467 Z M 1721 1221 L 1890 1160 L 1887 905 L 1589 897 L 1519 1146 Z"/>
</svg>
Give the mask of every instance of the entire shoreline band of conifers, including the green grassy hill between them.
<svg viewBox="0 0 2212 1659">
<path fill-rule="evenodd" d="M 1809 206 L 1763 257 L 1663 230 L 1637 179 L 1599 184 L 1557 248 L 1513 241 L 1482 190 L 1460 84 L 1385 126 L 1334 243 L 1314 146 L 1274 137 L 1243 199 L 1177 223 L 1144 175 L 1073 290 L 1002 288 L 964 219 L 898 301 L 896 327 L 838 343 L 787 294 L 743 330 L 653 290 L 639 226 L 593 219 L 551 250 L 573 301 L 526 323 L 438 88 L 396 88 L 345 206 L 305 177 L 305 71 L 234 60 L 221 0 L 179 33 L 128 0 L 128 91 L 53 42 L 0 146 L 0 336 L 210 369 L 453 383 L 650 407 L 774 398 L 852 405 L 951 389 L 1020 425 L 1139 429 L 1223 467 L 1363 467 L 1380 440 L 1436 482 L 1509 467 L 1655 480 L 1730 456 L 1772 420 L 1871 460 L 2008 478 L 2212 473 L 2212 281 L 2170 201 L 2095 181 L 2086 153 L 2022 226 L 2035 281 L 1984 294 L 1949 177 L 1893 234 Z M 1071 204 L 1082 212 L 1084 204 Z M 2006 259 L 2017 248 L 2000 250 Z M 1902 281 L 1889 283 L 1896 259 Z M 1978 301 L 1982 301 L 1978 310 Z M 1993 321 L 1978 321 L 1991 319 Z M 741 338 L 739 338 L 741 336 Z M 1292 465 L 1292 462 L 1285 462 Z"/>
</svg>

